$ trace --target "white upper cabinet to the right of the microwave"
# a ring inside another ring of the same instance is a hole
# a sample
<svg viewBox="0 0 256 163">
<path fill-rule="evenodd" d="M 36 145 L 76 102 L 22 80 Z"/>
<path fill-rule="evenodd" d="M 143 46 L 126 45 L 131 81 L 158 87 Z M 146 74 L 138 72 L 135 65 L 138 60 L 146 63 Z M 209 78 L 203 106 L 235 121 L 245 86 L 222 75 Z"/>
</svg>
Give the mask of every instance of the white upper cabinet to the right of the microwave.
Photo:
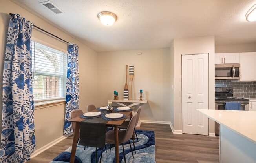
<svg viewBox="0 0 256 163">
<path fill-rule="evenodd" d="M 239 53 L 241 81 L 256 81 L 256 52 Z"/>
</svg>

